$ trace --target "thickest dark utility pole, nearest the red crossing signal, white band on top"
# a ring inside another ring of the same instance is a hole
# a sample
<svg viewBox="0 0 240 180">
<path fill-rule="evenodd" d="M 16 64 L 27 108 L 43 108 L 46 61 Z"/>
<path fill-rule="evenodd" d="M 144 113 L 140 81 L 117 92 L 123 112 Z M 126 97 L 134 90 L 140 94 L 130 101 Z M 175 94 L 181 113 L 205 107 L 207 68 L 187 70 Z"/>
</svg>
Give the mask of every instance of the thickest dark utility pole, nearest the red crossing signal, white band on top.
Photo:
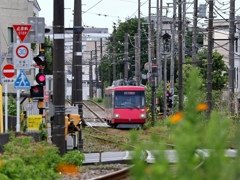
<svg viewBox="0 0 240 180">
<path fill-rule="evenodd" d="M 54 0 L 53 11 L 53 106 L 52 142 L 66 153 L 65 144 L 65 71 L 64 71 L 64 0 Z"/>
</svg>

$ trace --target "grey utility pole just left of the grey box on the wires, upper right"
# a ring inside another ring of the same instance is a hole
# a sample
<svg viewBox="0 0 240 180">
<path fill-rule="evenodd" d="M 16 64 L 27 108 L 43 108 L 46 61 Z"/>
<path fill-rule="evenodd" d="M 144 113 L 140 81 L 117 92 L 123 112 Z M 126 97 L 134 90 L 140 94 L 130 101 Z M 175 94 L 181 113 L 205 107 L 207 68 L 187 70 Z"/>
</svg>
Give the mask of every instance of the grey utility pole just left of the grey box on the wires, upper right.
<svg viewBox="0 0 240 180">
<path fill-rule="evenodd" d="M 197 12 L 198 12 L 198 0 L 194 0 L 194 11 L 193 11 L 193 36 L 192 36 L 192 62 L 193 66 L 196 66 L 197 58 Z"/>
</svg>

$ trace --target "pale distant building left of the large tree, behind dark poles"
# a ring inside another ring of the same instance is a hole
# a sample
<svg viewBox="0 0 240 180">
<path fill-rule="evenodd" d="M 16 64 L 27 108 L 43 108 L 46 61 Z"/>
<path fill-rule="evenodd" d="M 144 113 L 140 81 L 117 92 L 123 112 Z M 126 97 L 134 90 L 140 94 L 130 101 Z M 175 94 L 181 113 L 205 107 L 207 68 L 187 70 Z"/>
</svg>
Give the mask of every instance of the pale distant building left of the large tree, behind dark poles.
<svg viewBox="0 0 240 180">
<path fill-rule="evenodd" d="M 92 80 L 94 84 L 94 96 L 100 97 L 100 89 L 96 89 L 96 81 L 99 80 L 97 65 L 100 63 L 101 55 L 103 56 L 106 49 L 107 38 L 109 37 L 108 28 L 85 28 L 82 32 L 82 82 L 83 82 L 83 100 L 89 98 L 90 85 L 90 66 L 92 66 Z M 101 43 L 102 42 L 102 43 Z M 73 56 L 73 31 L 71 28 L 65 30 L 65 70 L 67 81 L 72 80 L 72 56 Z M 102 52 L 102 54 L 101 54 Z M 97 93 L 97 91 L 99 93 Z M 67 97 L 71 96 L 71 83 L 67 85 Z"/>
</svg>

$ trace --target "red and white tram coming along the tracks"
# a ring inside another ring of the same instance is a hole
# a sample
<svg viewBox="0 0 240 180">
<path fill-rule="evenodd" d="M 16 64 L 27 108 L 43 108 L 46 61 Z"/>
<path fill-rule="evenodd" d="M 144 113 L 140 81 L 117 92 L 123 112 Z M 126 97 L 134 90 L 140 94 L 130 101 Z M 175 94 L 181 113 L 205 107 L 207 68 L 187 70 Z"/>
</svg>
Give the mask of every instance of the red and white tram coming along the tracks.
<svg viewBox="0 0 240 180">
<path fill-rule="evenodd" d="M 113 85 L 105 91 L 105 120 L 114 128 L 139 128 L 146 122 L 145 87 Z"/>
</svg>

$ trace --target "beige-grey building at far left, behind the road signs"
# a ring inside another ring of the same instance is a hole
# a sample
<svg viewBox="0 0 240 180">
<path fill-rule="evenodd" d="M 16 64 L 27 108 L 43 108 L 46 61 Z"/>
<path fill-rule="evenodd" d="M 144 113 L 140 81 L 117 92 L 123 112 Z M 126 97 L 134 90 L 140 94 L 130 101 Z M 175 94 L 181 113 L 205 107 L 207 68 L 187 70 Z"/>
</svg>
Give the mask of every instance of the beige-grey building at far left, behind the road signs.
<svg viewBox="0 0 240 180">
<path fill-rule="evenodd" d="M 0 3 L 0 51 L 2 53 L 1 70 L 7 63 L 13 63 L 12 46 L 17 42 L 13 30 L 14 24 L 28 24 L 28 17 L 38 17 L 41 8 L 37 0 L 3 0 Z M 36 52 L 33 52 L 33 54 Z M 16 73 L 15 73 L 16 74 Z M 34 69 L 26 71 L 31 84 L 34 82 Z M 15 93 L 13 85 L 9 85 L 9 92 Z"/>
</svg>

